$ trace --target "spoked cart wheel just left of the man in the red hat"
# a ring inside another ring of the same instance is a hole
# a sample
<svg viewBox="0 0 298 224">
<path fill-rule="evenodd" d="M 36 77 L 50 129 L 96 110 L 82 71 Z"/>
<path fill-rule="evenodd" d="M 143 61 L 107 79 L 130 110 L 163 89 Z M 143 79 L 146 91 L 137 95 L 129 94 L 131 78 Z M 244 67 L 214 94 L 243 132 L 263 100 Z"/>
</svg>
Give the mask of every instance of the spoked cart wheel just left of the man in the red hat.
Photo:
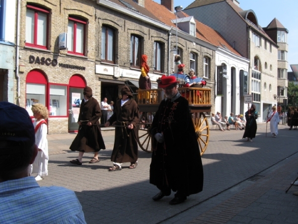
<svg viewBox="0 0 298 224">
<path fill-rule="evenodd" d="M 143 125 L 145 125 L 145 127 L 141 129 Z M 138 125 L 137 129 L 138 144 L 145 152 L 152 152 L 150 129 L 151 123 L 141 123 Z"/>
</svg>

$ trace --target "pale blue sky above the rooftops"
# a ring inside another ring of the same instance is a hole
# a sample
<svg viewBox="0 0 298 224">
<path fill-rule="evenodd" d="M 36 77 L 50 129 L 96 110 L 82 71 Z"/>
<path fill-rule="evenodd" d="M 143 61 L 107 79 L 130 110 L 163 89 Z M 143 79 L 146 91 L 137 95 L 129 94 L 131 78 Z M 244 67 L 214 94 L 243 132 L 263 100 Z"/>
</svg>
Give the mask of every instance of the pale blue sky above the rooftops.
<svg viewBox="0 0 298 224">
<path fill-rule="evenodd" d="M 154 0 L 160 3 L 160 0 Z M 184 8 L 194 0 L 174 0 L 174 6 Z M 243 10 L 252 9 L 262 27 L 266 27 L 274 18 L 277 18 L 288 29 L 288 72 L 290 65 L 298 64 L 298 0 L 238 0 Z"/>
</svg>

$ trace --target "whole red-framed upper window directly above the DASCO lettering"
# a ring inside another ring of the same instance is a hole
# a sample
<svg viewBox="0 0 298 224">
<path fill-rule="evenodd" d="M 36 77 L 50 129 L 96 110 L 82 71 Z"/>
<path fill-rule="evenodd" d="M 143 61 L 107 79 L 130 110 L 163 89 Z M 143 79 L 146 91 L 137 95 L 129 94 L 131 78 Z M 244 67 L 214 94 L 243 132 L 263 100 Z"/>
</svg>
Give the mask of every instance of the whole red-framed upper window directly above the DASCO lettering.
<svg viewBox="0 0 298 224">
<path fill-rule="evenodd" d="M 25 46 L 47 49 L 49 14 L 47 9 L 27 5 Z"/>
</svg>

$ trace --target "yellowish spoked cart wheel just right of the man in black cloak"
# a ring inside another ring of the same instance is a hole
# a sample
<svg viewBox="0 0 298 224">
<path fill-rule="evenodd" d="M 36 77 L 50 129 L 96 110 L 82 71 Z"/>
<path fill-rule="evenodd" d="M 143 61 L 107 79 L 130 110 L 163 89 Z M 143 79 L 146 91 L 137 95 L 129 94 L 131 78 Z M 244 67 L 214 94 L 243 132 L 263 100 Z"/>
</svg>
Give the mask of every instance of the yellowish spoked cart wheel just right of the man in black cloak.
<svg viewBox="0 0 298 224">
<path fill-rule="evenodd" d="M 205 113 L 195 112 L 193 113 L 193 123 L 195 126 L 202 156 L 206 151 L 209 142 L 209 122 Z"/>
</svg>

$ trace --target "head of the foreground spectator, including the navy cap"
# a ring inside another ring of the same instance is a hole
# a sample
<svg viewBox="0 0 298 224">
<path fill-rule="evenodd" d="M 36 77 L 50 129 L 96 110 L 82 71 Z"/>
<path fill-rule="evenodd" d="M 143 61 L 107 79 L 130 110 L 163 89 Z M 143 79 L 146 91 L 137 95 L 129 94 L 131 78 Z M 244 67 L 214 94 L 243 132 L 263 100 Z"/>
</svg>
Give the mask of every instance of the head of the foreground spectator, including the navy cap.
<svg viewBox="0 0 298 224">
<path fill-rule="evenodd" d="M 0 102 L 0 182 L 28 176 L 37 155 L 35 132 L 28 112 Z"/>
</svg>

